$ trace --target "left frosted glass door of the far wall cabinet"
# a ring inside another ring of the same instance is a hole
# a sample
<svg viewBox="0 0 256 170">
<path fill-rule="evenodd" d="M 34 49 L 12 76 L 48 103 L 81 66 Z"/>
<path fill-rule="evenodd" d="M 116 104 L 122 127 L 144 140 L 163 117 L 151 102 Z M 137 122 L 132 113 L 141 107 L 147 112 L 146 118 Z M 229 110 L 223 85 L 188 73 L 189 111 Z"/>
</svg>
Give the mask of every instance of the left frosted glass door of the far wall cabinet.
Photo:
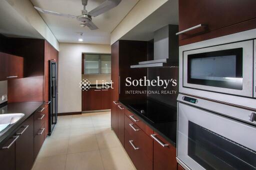
<svg viewBox="0 0 256 170">
<path fill-rule="evenodd" d="M 84 74 L 99 74 L 99 55 L 84 55 Z"/>
</svg>

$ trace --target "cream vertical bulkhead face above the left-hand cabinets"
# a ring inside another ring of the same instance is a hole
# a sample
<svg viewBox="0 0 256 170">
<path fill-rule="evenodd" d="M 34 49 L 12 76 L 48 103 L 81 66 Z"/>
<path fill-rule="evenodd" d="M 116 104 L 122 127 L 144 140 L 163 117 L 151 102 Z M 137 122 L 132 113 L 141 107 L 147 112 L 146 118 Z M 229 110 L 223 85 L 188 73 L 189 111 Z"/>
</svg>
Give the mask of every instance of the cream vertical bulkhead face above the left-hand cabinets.
<svg viewBox="0 0 256 170">
<path fill-rule="evenodd" d="M 39 32 L 57 50 L 58 41 L 41 18 L 30 0 L 6 0 L 34 29 Z"/>
</svg>

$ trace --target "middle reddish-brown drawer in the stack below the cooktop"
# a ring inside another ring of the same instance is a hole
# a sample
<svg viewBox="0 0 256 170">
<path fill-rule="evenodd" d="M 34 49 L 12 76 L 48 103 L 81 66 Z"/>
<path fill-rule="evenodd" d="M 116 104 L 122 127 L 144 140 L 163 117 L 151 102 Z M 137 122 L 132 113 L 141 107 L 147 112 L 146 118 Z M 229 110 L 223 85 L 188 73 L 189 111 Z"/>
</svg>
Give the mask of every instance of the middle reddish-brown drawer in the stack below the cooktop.
<svg viewBox="0 0 256 170">
<path fill-rule="evenodd" d="M 133 140 L 147 159 L 153 161 L 153 140 L 148 137 L 137 125 L 135 125 L 127 116 L 124 118 L 124 129 L 127 134 L 126 142 Z M 128 145 L 130 145 L 128 143 Z"/>
</svg>

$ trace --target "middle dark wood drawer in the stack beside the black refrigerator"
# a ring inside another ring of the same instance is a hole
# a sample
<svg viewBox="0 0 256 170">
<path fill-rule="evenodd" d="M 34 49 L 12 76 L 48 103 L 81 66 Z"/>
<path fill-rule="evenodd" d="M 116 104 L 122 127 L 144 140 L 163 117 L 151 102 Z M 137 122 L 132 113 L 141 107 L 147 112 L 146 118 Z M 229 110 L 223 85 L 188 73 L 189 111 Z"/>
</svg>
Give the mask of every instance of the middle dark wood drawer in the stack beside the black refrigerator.
<svg viewBox="0 0 256 170">
<path fill-rule="evenodd" d="M 42 124 L 44 123 L 45 117 L 45 108 L 42 107 L 34 113 L 34 136 L 36 136 L 37 132 L 41 128 Z"/>
</svg>

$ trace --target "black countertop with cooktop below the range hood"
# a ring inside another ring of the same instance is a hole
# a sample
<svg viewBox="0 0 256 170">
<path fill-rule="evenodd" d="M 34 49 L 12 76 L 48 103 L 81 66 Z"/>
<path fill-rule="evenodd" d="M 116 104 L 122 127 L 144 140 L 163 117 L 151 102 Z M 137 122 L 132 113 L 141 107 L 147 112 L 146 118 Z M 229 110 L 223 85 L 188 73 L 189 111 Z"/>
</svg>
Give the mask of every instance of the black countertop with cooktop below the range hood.
<svg viewBox="0 0 256 170">
<path fill-rule="evenodd" d="M 134 113 L 138 118 L 141 119 L 146 125 L 152 128 L 153 131 L 162 136 L 166 141 L 176 147 L 176 131 L 177 131 L 177 109 L 171 106 L 161 104 L 158 102 L 150 101 L 150 115 L 144 116 L 141 114 L 136 107 L 139 105 L 148 103 L 147 100 L 142 101 L 131 101 L 131 100 L 119 100 L 129 111 Z M 134 104 L 137 106 L 134 107 Z M 141 106 L 141 108 L 143 108 Z M 154 108 L 154 109 L 153 109 Z M 165 109 L 162 109 L 165 108 Z M 158 111 L 157 111 L 158 110 Z M 146 111 L 145 111 L 146 112 Z M 148 119 L 149 117 L 149 119 Z M 159 119 L 163 118 L 163 119 Z M 151 120 L 150 120 L 151 119 Z M 165 120 L 164 120 L 165 119 Z"/>
</svg>

